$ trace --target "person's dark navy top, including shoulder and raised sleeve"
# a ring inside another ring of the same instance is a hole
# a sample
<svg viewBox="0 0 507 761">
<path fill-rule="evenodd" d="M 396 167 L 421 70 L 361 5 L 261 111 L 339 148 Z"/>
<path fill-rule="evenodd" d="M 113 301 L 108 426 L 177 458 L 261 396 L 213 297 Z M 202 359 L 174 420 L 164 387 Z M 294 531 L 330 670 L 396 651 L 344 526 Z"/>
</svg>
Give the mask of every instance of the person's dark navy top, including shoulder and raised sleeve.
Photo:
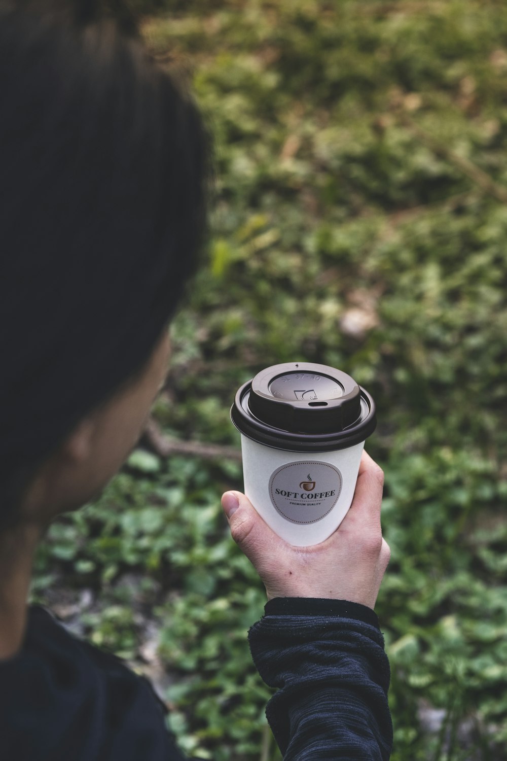
<svg viewBox="0 0 507 761">
<path fill-rule="evenodd" d="M 271 600 L 249 633 L 271 686 L 285 759 L 388 759 L 388 663 L 375 613 L 331 600 Z M 22 650 L 0 661 L 2 761 L 183 761 L 150 683 L 29 609 Z"/>
</svg>

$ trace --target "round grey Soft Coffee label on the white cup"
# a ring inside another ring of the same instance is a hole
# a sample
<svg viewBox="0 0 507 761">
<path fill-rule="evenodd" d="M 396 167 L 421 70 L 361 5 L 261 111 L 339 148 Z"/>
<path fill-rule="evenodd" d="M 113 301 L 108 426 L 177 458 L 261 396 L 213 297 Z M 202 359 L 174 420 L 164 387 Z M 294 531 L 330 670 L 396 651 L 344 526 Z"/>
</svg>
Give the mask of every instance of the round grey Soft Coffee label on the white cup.
<svg viewBox="0 0 507 761">
<path fill-rule="evenodd" d="M 274 471 L 269 493 L 274 508 L 287 521 L 310 524 L 334 508 L 341 492 L 340 471 L 330 463 L 299 461 Z"/>
</svg>

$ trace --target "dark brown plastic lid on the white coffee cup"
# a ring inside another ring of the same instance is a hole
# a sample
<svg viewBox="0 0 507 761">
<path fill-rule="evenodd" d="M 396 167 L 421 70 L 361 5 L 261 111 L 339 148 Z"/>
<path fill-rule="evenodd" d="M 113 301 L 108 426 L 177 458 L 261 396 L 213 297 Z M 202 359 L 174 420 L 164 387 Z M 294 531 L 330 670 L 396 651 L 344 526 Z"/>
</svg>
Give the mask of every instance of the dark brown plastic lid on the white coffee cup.
<svg viewBox="0 0 507 761">
<path fill-rule="evenodd" d="M 238 390 L 230 416 L 243 435 L 288 451 L 345 449 L 376 427 L 369 393 L 341 370 L 312 362 L 262 370 Z"/>
</svg>

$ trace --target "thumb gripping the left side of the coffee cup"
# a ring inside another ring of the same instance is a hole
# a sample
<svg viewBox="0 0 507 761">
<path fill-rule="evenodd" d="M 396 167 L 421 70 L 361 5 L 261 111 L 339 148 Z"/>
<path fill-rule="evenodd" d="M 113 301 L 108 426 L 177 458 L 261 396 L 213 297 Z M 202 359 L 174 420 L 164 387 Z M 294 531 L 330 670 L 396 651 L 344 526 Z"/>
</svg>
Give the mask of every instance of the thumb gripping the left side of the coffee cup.
<svg viewBox="0 0 507 761">
<path fill-rule="evenodd" d="M 256 567 L 261 557 L 266 558 L 280 552 L 280 537 L 262 520 L 244 494 L 225 492 L 222 507 L 233 540 Z"/>
</svg>

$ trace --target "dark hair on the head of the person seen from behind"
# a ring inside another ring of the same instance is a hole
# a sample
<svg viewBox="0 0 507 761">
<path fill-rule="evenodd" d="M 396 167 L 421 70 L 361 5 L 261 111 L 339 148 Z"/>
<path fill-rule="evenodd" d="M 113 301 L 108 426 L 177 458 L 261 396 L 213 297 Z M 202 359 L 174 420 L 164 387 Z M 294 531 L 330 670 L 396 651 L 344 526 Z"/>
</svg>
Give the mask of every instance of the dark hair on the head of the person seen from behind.
<svg viewBox="0 0 507 761">
<path fill-rule="evenodd" d="M 205 229 L 198 109 L 97 8 L 0 0 L 0 523 L 147 362 Z"/>
</svg>

